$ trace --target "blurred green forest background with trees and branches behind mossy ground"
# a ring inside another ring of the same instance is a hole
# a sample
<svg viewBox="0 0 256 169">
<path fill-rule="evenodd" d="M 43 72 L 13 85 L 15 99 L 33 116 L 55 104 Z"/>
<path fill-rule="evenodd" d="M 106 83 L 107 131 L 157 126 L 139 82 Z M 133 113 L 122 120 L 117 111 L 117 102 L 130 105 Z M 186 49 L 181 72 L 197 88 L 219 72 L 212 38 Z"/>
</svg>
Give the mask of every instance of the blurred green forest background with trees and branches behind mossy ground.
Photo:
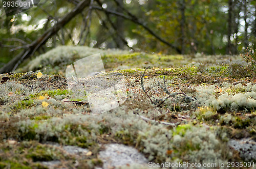
<svg viewBox="0 0 256 169">
<path fill-rule="evenodd" d="M 252 0 L 42 0 L 11 16 L 1 5 L 0 15 L 0 73 L 59 45 L 161 54 L 239 54 L 256 45 Z"/>
</svg>

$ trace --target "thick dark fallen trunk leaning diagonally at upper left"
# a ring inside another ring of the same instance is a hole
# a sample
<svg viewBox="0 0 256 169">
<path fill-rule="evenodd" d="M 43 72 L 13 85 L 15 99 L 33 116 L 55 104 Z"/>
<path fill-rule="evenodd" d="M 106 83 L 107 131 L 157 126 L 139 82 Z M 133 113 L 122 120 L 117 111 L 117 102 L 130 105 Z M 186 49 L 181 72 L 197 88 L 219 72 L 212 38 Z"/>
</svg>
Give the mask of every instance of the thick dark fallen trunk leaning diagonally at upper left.
<svg viewBox="0 0 256 169">
<path fill-rule="evenodd" d="M 24 51 L 20 52 L 15 58 L 8 62 L 4 67 L 0 69 L 0 73 L 7 73 L 15 70 L 18 62 L 22 62 L 23 59 L 29 58 L 42 44 L 53 35 L 55 35 L 61 27 L 65 26 L 72 18 L 79 14 L 85 7 L 89 6 L 90 1 L 81 1 L 70 13 L 63 16 L 51 29 L 48 29 L 44 34 L 42 34 L 38 39 L 33 41 L 29 45 L 23 46 Z"/>
</svg>

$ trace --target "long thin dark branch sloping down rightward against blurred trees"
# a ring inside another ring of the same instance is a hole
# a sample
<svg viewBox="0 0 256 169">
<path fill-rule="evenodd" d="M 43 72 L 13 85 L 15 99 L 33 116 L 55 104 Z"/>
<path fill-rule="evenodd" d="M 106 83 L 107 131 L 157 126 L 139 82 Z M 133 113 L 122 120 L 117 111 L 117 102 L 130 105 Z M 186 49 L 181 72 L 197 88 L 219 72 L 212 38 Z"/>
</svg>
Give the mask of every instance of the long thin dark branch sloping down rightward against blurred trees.
<svg viewBox="0 0 256 169">
<path fill-rule="evenodd" d="M 111 10 L 108 10 L 108 9 L 103 9 L 101 7 L 98 7 L 98 6 L 93 6 L 92 8 L 96 9 L 96 10 L 104 11 L 105 13 L 109 13 L 109 14 L 112 14 L 112 15 L 116 15 L 116 16 L 122 17 L 122 18 L 127 19 L 127 20 L 131 20 L 132 22 L 134 22 L 134 23 L 136 23 L 138 25 L 141 25 L 148 33 L 153 35 L 159 41 L 163 42 L 164 44 L 166 44 L 166 45 L 168 45 L 168 46 L 170 46 L 172 48 L 174 48 L 178 53 L 181 53 L 181 50 L 177 46 L 167 42 L 164 39 L 162 39 L 154 31 L 152 31 L 149 27 L 147 27 L 145 23 L 140 22 L 139 19 L 137 17 L 135 17 L 134 15 L 133 15 L 134 17 L 130 17 L 130 16 L 126 16 L 126 15 L 124 15 L 122 13 L 119 13 L 119 12 L 116 12 L 116 11 L 111 11 Z"/>
</svg>

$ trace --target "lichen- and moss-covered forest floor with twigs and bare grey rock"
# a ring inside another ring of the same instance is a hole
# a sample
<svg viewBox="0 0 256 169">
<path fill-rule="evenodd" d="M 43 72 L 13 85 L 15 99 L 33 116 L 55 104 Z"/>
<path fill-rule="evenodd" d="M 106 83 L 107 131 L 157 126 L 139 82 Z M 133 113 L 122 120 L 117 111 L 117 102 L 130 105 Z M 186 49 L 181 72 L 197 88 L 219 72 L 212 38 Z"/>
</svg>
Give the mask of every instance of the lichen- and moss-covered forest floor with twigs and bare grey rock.
<svg viewBox="0 0 256 169">
<path fill-rule="evenodd" d="M 256 85 L 242 57 L 92 50 L 106 71 L 95 78 L 125 86 L 122 104 L 94 114 L 68 88 L 65 68 L 84 53 L 74 48 L 0 74 L 0 168 L 256 168 Z"/>
</svg>

